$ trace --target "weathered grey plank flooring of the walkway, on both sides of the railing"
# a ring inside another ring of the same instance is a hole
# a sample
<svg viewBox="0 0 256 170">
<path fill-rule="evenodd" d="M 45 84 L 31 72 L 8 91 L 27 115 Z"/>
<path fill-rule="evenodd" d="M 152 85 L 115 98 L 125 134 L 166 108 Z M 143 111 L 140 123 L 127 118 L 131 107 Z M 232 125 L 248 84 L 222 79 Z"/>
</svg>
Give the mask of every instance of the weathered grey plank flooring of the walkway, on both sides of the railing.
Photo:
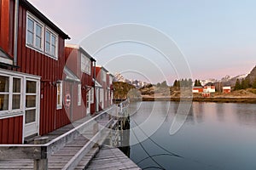
<svg viewBox="0 0 256 170">
<path fill-rule="evenodd" d="M 58 138 L 64 133 L 72 130 L 73 127 L 78 127 L 80 124 L 88 121 L 90 117 L 86 117 L 78 122 L 74 122 L 73 124 L 69 124 L 65 127 L 61 127 L 55 130 L 52 133 L 49 133 L 47 136 L 49 140 L 54 140 Z M 113 125 L 117 121 L 113 122 Z M 98 123 L 102 126 L 108 123 L 108 116 L 102 118 L 98 121 Z M 67 167 L 69 161 L 72 161 L 81 150 L 84 150 L 86 144 L 88 145 L 90 139 L 94 136 L 95 132 L 93 125 L 87 127 L 85 132 L 80 134 L 78 137 L 73 139 L 72 142 L 66 144 L 61 150 L 56 151 L 53 155 L 49 156 L 48 159 L 48 169 L 56 170 L 56 169 L 140 169 L 137 165 L 131 161 L 125 154 L 123 154 L 117 148 L 107 148 L 105 146 L 100 150 L 98 144 L 90 149 L 90 151 L 83 156 L 81 161 L 79 161 L 78 166 L 76 167 Z M 108 136 L 108 131 L 104 132 L 101 139 L 100 145 L 103 143 L 103 140 Z M 32 143 L 32 142 L 31 142 Z M 100 150 L 100 151 L 99 151 Z M 1 152 L 1 150 L 0 150 Z M 97 154 L 97 152 L 99 152 Z M 96 157 L 95 157 L 96 156 Z M 95 158 L 94 158 L 95 157 Z M 90 163 L 91 162 L 91 163 Z M 114 164 L 116 164 L 114 166 Z M 101 165 L 101 166 L 99 166 Z M 13 160 L 1 160 L 0 159 L 0 169 L 34 169 L 34 161 L 31 159 L 13 159 Z"/>
</svg>

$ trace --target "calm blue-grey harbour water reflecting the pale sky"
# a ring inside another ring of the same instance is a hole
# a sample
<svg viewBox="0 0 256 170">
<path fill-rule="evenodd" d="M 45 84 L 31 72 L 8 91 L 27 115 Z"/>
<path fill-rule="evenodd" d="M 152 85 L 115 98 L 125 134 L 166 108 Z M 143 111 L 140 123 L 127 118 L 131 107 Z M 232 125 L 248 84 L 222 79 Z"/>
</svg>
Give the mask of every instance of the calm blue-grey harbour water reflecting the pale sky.
<svg viewBox="0 0 256 170">
<path fill-rule="evenodd" d="M 193 103 L 186 122 L 174 135 L 169 129 L 178 103 L 137 105 L 131 127 L 144 124 L 148 136 L 148 129 L 156 131 L 140 144 L 134 143 L 146 136 L 142 129 L 130 133 L 130 157 L 143 169 L 256 169 L 256 105 Z"/>
</svg>

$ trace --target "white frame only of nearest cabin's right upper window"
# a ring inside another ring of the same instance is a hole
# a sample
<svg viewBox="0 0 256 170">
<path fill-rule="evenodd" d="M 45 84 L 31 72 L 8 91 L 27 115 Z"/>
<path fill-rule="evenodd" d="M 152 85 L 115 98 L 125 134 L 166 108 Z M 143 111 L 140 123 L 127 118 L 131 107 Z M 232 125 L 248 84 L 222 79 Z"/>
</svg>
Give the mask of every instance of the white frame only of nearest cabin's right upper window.
<svg viewBox="0 0 256 170">
<path fill-rule="evenodd" d="M 49 32 L 49 52 L 46 51 L 46 32 Z M 52 54 L 52 46 L 53 43 L 51 42 L 52 37 L 55 37 L 55 54 Z M 44 52 L 46 55 L 48 55 L 49 57 L 53 58 L 53 59 L 58 59 L 58 35 L 55 33 L 55 31 L 52 31 L 51 29 L 49 29 L 49 27 L 46 26 L 45 28 L 45 34 L 44 34 Z"/>
</svg>

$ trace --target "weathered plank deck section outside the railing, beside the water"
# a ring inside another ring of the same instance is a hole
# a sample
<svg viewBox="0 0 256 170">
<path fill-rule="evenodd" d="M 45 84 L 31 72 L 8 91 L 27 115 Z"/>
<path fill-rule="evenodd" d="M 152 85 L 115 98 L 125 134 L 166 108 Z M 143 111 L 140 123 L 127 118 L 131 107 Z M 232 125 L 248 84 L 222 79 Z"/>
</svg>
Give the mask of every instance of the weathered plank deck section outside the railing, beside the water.
<svg viewBox="0 0 256 170">
<path fill-rule="evenodd" d="M 94 157 L 89 166 L 86 168 L 88 170 L 116 170 L 116 169 L 130 169 L 139 170 L 138 167 L 131 159 L 119 150 L 118 148 L 110 148 L 107 146 L 102 146 L 99 153 Z"/>
</svg>

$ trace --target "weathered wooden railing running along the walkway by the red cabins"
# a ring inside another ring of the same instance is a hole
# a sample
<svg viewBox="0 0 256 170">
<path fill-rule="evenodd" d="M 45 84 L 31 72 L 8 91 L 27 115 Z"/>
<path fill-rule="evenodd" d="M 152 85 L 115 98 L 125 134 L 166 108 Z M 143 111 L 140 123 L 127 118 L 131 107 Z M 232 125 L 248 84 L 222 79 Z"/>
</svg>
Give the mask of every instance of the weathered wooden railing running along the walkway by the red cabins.
<svg viewBox="0 0 256 170">
<path fill-rule="evenodd" d="M 40 144 L 40 141 L 35 142 L 36 144 L 0 144 L 0 160 L 32 159 L 34 160 L 34 169 L 47 169 L 49 156 L 52 156 L 56 151 L 61 150 L 61 148 L 63 148 L 66 144 L 72 142 L 73 139 L 84 133 L 86 127 L 93 126 L 95 135 L 62 168 L 73 169 L 79 164 L 79 161 L 82 160 L 82 158 L 90 151 L 97 141 L 102 138 L 104 129 L 108 129 L 108 127 L 113 124 L 116 116 L 110 115 L 119 114 L 119 111 L 117 110 L 118 107 L 113 106 L 106 111 L 102 111 L 102 113 L 92 117 L 89 121 L 84 122 L 78 127 L 74 127 L 72 130 L 62 134 L 46 144 Z M 109 112 L 112 113 L 109 114 Z M 108 122 L 99 129 L 99 124 L 96 123 L 96 121 L 105 116 L 108 116 Z"/>
</svg>

